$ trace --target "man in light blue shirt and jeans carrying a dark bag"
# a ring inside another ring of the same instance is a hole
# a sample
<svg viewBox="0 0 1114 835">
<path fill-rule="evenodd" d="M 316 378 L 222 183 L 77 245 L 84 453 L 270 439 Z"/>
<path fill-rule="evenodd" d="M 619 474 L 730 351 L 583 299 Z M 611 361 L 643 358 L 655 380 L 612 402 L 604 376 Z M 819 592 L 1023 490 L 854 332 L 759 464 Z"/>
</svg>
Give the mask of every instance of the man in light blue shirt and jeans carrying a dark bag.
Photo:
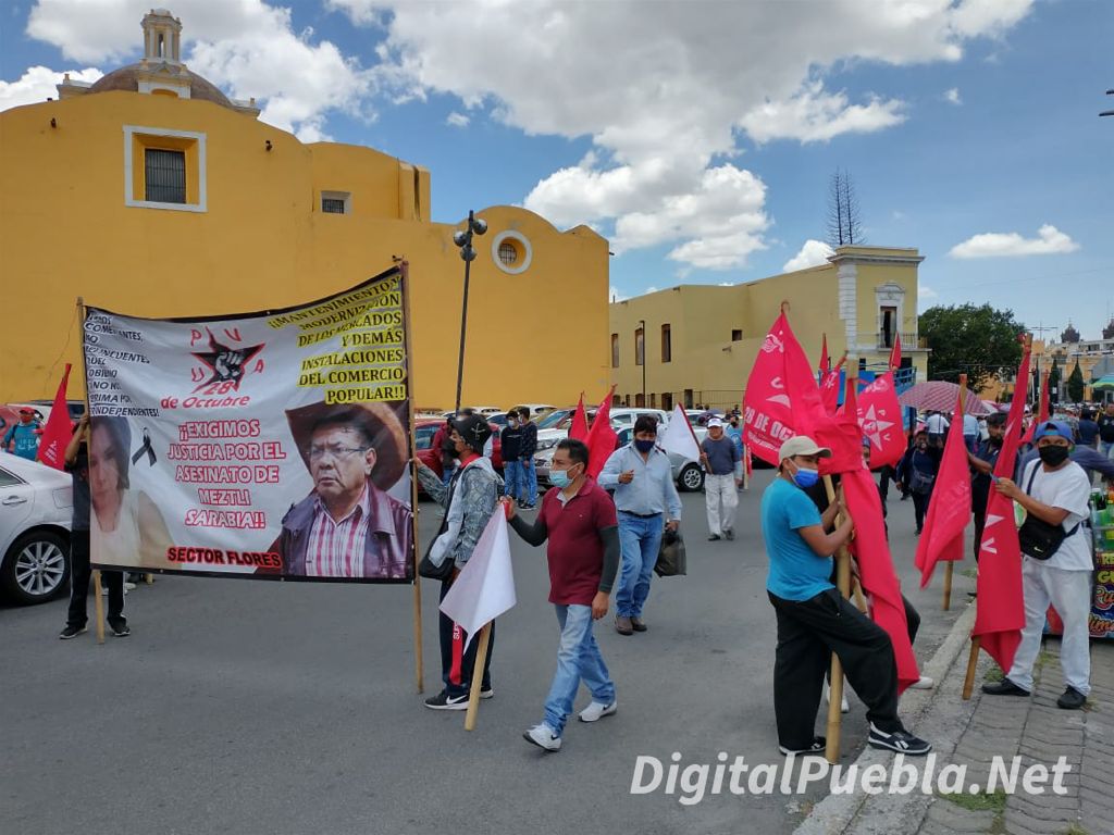
<svg viewBox="0 0 1114 835">
<path fill-rule="evenodd" d="M 596 483 L 615 491 L 619 518 L 623 573 L 615 595 L 615 629 L 619 635 L 645 632 L 642 607 L 665 528 L 681 524 L 681 497 L 673 483 L 670 456 L 659 450 L 657 420 L 642 415 L 634 423 L 634 441 L 612 453 Z"/>
</svg>

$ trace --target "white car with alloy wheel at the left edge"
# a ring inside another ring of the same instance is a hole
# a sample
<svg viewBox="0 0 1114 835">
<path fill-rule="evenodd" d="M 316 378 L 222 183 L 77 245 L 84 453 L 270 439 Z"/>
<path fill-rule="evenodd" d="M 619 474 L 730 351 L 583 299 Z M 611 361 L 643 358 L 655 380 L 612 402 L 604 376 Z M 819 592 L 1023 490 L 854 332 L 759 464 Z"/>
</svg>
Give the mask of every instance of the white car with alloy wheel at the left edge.
<svg viewBox="0 0 1114 835">
<path fill-rule="evenodd" d="M 0 453 L 0 589 L 41 603 L 66 588 L 74 518 L 69 473 Z"/>
</svg>

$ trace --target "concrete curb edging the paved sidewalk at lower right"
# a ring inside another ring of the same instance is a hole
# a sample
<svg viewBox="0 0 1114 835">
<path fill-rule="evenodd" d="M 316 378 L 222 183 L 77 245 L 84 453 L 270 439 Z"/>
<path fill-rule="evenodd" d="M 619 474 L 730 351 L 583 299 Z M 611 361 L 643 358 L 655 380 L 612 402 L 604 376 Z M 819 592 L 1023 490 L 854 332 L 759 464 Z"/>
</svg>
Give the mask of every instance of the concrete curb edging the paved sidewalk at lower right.
<svg viewBox="0 0 1114 835">
<path fill-rule="evenodd" d="M 901 697 L 902 720 L 918 736 L 932 743 L 932 752 L 940 764 L 950 762 L 978 705 L 977 698 L 969 701 L 961 698 L 967 672 L 966 650 L 970 646 L 974 626 L 975 607 L 968 603 L 922 670 L 936 680 L 936 687 L 932 690 L 906 690 Z M 980 671 L 986 664 L 986 658 L 980 658 Z M 978 674 L 975 680 L 976 684 L 980 680 Z M 853 765 L 858 766 L 860 774 L 876 763 L 888 769 L 893 757 L 890 752 L 868 746 Z M 843 773 L 847 774 L 851 767 L 844 766 Z M 793 832 L 794 835 L 889 835 L 895 832 L 917 832 L 932 799 L 934 795 L 919 790 L 906 795 L 830 794 L 812 808 Z"/>
</svg>

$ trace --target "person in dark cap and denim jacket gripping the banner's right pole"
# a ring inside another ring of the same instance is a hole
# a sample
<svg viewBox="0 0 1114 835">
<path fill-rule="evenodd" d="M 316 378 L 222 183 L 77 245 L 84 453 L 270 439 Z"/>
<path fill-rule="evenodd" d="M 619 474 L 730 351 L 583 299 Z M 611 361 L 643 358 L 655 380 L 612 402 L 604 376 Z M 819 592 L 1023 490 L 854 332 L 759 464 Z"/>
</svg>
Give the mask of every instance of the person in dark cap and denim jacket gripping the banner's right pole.
<svg viewBox="0 0 1114 835">
<path fill-rule="evenodd" d="M 453 561 L 452 577 L 441 582 L 442 600 L 452 588 L 459 570 L 471 559 L 476 543 L 487 528 L 502 492 L 502 479 L 491 466 L 491 460 L 483 454 L 483 448 L 491 438 L 491 426 L 487 420 L 478 414 L 458 418 L 450 438 L 459 466 L 448 487 L 428 466 L 421 462 L 418 464 L 418 480 L 422 488 L 433 501 L 444 508 L 441 529 L 429 549 L 429 558 L 434 566 L 442 566 L 446 560 Z M 469 644 L 468 633 L 444 612 L 439 612 L 439 618 L 441 680 L 444 687 L 436 696 L 426 699 L 426 707 L 432 710 L 467 710 L 479 641 Z M 488 656 L 480 681 L 481 699 L 489 699 L 495 695 L 491 689 L 494 650 L 492 622 L 488 630 Z"/>
</svg>

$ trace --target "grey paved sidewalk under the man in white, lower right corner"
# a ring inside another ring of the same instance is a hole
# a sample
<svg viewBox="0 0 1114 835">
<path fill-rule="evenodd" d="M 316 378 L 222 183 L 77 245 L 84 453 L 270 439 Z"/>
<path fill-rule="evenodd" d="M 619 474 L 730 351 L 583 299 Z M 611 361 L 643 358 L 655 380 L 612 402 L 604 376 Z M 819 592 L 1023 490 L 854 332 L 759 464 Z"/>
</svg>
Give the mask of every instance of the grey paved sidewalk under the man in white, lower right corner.
<svg viewBox="0 0 1114 835">
<path fill-rule="evenodd" d="M 1067 793 L 1030 795 L 1018 786 L 1006 795 L 1005 808 L 966 808 L 935 797 L 920 835 L 1006 833 L 1007 835 L 1112 835 L 1114 833 L 1114 644 L 1092 641 L 1092 691 L 1084 710 L 1061 710 L 1064 691 L 1059 641 L 1048 639 L 1037 665 L 1035 695 L 1029 699 L 984 696 L 976 687 L 974 714 L 950 762 L 967 766 L 967 782 L 986 786 L 991 759 L 1008 764 L 1020 756 L 1022 770 L 1040 763 L 1052 766 L 1061 756 L 1071 770 Z M 993 668 L 986 656 L 977 682 Z"/>
</svg>

